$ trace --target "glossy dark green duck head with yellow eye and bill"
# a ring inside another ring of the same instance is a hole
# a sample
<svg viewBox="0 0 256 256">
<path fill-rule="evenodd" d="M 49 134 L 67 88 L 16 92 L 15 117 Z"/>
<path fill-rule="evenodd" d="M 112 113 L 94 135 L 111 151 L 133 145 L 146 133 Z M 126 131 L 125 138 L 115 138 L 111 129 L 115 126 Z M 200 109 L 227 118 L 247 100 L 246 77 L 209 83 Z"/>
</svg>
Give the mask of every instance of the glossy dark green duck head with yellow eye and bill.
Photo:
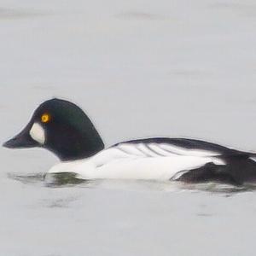
<svg viewBox="0 0 256 256">
<path fill-rule="evenodd" d="M 90 157 L 104 148 L 102 138 L 84 111 L 61 99 L 43 102 L 6 148 L 47 148 L 61 160 Z"/>
</svg>

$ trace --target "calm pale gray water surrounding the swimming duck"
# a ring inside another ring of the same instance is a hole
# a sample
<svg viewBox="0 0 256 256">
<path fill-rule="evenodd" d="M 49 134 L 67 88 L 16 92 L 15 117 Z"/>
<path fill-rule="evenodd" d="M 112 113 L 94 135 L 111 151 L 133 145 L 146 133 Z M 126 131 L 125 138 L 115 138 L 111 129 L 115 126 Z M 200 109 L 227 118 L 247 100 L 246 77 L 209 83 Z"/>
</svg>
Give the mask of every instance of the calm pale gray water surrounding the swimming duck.
<svg viewBox="0 0 256 256">
<path fill-rule="evenodd" d="M 167 136 L 256 150 L 255 26 L 249 0 L 1 0 L 0 143 L 58 96 L 107 146 Z M 53 154 L 0 158 L 0 256 L 255 254 L 254 191 L 52 187 Z"/>
</svg>

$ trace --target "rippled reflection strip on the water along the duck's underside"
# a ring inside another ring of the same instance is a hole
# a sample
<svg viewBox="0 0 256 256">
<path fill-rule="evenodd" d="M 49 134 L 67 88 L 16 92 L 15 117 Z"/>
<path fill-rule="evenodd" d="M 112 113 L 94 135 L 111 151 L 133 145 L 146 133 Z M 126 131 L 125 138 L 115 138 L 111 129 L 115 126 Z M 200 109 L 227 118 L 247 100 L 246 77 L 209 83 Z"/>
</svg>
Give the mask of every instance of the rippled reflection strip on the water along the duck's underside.
<svg viewBox="0 0 256 256">
<path fill-rule="evenodd" d="M 159 182 L 159 181 L 125 181 L 125 180 L 84 180 L 77 177 L 74 172 L 60 172 L 60 173 L 30 173 L 26 175 L 20 175 L 15 173 L 9 173 L 8 177 L 25 184 L 42 184 L 49 188 L 57 187 L 71 187 L 78 186 L 89 188 L 103 186 L 108 188 L 133 188 L 137 189 L 137 186 L 141 186 L 144 189 L 157 191 L 178 191 L 178 190 L 191 190 L 193 192 L 210 192 L 223 194 L 226 197 L 235 195 L 241 192 L 250 192 L 256 190 L 256 184 L 246 184 L 244 186 L 236 187 L 227 184 L 220 183 L 198 183 L 188 184 L 179 182 Z M 102 183 L 102 181 L 104 183 Z M 136 185 L 135 185 L 136 184 Z"/>
</svg>

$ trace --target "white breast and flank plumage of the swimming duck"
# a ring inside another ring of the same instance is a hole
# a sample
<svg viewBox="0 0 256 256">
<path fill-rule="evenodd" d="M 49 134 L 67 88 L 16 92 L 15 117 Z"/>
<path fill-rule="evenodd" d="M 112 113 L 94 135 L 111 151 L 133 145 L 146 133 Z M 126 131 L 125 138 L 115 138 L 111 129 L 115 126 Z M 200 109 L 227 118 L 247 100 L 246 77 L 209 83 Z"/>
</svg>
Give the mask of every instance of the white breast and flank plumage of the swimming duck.
<svg viewBox="0 0 256 256">
<path fill-rule="evenodd" d="M 124 143 L 86 160 L 63 162 L 49 172 L 75 172 L 84 179 L 118 178 L 168 180 L 208 162 L 224 165 L 216 152 L 158 143 Z"/>
</svg>

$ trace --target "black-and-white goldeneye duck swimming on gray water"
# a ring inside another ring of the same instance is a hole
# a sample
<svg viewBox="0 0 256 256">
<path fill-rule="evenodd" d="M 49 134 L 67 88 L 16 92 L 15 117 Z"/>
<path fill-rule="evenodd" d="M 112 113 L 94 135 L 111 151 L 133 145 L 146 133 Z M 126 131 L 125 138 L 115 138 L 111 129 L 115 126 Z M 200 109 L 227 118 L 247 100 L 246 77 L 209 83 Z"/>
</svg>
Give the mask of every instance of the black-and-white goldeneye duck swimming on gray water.
<svg viewBox="0 0 256 256">
<path fill-rule="evenodd" d="M 216 143 L 150 137 L 105 148 L 89 117 L 73 102 L 43 102 L 5 148 L 46 148 L 60 163 L 47 173 L 73 173 L 84 180 L 131 179 L 182 183 L 255 183 L 255 153 Z"/>
</svg>

